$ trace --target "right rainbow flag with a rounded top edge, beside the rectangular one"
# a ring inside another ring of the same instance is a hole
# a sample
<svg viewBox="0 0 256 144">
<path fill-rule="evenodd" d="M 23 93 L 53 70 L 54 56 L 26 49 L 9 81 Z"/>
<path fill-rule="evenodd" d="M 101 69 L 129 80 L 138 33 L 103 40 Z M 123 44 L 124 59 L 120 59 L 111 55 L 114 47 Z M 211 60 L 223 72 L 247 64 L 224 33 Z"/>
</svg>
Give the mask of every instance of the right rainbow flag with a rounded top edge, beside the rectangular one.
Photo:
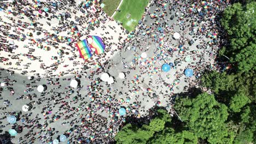
<svg viewBox="0 0 256 144">
<path fill-rule="evenodd" d="M 104 53 L 106 46 L 103 44 L 102 39 L 95 35 L 90 36 L 90 38 L 92 39 L 92 43 L 90 44 L 90 47 L 92 49 L 95 49 L 95 53 L 97 55 Z"/>
</svg>

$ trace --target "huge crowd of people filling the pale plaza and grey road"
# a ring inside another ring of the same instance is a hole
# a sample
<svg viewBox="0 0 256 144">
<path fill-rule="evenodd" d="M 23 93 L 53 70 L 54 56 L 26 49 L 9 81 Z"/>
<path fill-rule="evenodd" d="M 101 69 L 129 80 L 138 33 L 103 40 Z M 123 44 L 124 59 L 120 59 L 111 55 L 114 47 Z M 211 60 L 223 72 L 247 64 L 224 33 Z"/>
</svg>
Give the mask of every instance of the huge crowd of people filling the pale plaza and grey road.
<svg viewBox="0 0 256 144">
<path fill-rule="evenodd" d="M 109 24 L 114 20 L 102 11 L 101 1 L 85 1 L 79 9 L 74 1 L 4 3 L 0 118 L 15 116 L 16 122 L 3 121 L 0 129 L 18 132 L 8 138 L 13 143 L 54 143 L 61 135 L 65 143 L 110 143 L 126 122 L 153 115 L 154 106 L 166 107 L 173 116 L 176 94 L 196 85 L 204 70 L 218 69 L 216 17 L 228 4 L 153 0 L 135 30 L 126 34 L 121 25 Z M 180 38 L 173 37 L 176 32 Z M 92 33 L 101 35 L 106 51 L 83 61 L 74 43 Z M 35 53 L 38 49 L 42 55 Z M 166 63 L 171 67 L 167 72 L 161 69 Z M 193 76 L 184 74 L 188 68 Z M 125 79 L 118 78 L 121 71 Z M 100 79 L 106 72 L 114 83 Z M 71 80 L 78 86 L 71 87 Z M 37 91 L 39 85 L 45 85 L 44 92 Z M 21 111 L 22 105 L 29 110 Z"/>
</svg>

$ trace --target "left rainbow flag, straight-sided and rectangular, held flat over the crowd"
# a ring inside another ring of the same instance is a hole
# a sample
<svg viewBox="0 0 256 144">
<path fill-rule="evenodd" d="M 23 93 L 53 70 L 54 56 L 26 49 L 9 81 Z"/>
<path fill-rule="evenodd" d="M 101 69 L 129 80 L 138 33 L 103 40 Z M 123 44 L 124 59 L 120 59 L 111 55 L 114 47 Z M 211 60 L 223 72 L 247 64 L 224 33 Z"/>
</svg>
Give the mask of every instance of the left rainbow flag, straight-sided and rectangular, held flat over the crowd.
<svg viewBox="0 0 256 144">
<path fill-rule="evenodd" d="M 91 54 L 91 48 L 88 46 L 88 43 L 86 41 L 86 39 L 79 41 L 77 44 L 75 44 L 75 46 L 77 47 L 80 56 L 83 59 L 89 59 L 91 58 L 92 54 Z"/>
</svg>

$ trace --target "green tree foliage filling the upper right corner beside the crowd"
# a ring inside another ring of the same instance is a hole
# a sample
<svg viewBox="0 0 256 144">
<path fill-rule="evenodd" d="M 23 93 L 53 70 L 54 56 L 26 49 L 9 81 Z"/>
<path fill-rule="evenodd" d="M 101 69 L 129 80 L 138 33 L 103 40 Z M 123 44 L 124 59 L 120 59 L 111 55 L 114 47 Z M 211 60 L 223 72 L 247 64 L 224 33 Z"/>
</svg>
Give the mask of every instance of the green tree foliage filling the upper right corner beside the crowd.
<svg viewBox="0 0 256 144">
<path fill-rule="evenodd" d="M 246 5 L 235 3 L 224 10 L 221 20 L 230 44 L 222 53 L 231 56 L 231 62 L 238 64 L 239 71 L 255 70 L 255 8 L 255 1 Z"/>
</svg>

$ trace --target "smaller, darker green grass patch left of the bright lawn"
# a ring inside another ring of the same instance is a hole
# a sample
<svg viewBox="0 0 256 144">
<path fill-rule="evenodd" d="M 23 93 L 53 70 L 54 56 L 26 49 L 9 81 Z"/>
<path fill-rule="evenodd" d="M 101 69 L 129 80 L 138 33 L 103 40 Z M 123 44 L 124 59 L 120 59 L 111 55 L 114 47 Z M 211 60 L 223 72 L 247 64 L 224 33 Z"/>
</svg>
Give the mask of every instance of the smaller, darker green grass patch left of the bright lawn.
<svg viewBox="0 0 256 144">
<path fill-rule="evenodd" d="M 102 3 L 105 5 L 103 10 L 108 16 L 112 16 L 120 2 L 121 0 L 104 0 L 102 1 Z"/>
</svg>

